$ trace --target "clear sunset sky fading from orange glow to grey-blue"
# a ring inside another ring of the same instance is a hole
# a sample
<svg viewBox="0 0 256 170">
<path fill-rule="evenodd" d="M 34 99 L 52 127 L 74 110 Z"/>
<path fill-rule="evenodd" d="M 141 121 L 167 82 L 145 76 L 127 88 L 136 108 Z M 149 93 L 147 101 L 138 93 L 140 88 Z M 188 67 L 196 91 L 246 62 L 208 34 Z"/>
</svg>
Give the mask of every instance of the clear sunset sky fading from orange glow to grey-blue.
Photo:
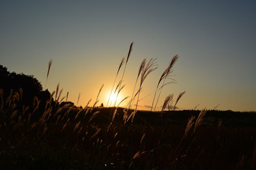
<svg viewBox="0 0 256 170">
<path fill-rule="evenodd" d="M 143 83 L 139 109 L 152 104 L 170 59 L 177 83 L 165 97 L 186 91 L 179 109 L 256 111 L 256 1 L 0 1 L 0 64 L 34 75 L 50 92 L 60 83 L 69 100 L 106 105 L 119 63 L 134 48 L 119 100 L 132 95 L 143 58 L 157 70 Z M 122 68 L 123 69 L 123 68 Z M 122 73 L 122 70 L 121 70 Z M 121 74 L 117 82 L 121 79 Z M 127 100 L 128 101 L 128 100 Z M 122 103 L 124 106 L 127 101 Z"/>
</svg>

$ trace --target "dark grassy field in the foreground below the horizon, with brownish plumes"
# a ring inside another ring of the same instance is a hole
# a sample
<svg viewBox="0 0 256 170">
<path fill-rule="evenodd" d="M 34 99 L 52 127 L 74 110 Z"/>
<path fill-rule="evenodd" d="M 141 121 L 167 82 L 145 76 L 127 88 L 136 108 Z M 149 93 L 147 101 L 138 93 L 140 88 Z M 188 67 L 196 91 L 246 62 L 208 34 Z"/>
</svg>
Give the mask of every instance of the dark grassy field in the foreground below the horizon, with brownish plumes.
<svg viewBox="0 0 256 170">
<path fill-rule="evenodd" d="M 255 169 L 256 113 L 23 105 L 1 90 L 1 169 Z M 21 107 L 18 107 L 21 105 Z M 115 113 L 113 116 L 113 113 Z"/>
</svg>

